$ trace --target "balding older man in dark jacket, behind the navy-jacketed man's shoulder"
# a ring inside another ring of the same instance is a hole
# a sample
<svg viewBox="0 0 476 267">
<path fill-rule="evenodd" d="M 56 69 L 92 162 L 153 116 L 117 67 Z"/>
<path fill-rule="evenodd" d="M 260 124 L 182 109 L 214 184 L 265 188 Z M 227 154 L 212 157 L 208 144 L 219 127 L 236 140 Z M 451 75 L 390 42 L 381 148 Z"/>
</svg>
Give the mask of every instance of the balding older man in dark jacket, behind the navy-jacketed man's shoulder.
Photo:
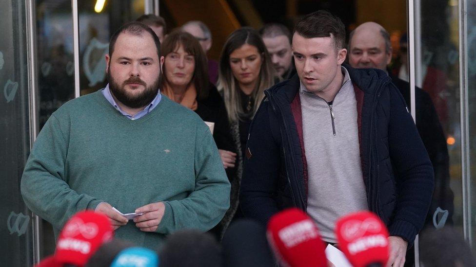
<svg viewBox="0 0 476 267">
<path fill-rule="evenodd" d="M 392 59 L 392 45 L 389 33 L 375 22 L 360 24 L 349 35 L 349 64 L 354 68 L 376 68 L 387 71 Z M 410 107 L 410 83 L 387 71 L 392 83 L 397 86 Z M 425 145 L 435 173 L 435 190 L 425 226 L 437 229 L 452 224 L 454 213 L 454 194 L 450 188 L 450 159 L 446 137 L 438 120 L 435 106 L 430 95 L 415 87 L 416 128 Z M 437 222 L 436 216 L 442 215 Z M 434 219 L 435 217 L 435 219 Z"/>
</svg>

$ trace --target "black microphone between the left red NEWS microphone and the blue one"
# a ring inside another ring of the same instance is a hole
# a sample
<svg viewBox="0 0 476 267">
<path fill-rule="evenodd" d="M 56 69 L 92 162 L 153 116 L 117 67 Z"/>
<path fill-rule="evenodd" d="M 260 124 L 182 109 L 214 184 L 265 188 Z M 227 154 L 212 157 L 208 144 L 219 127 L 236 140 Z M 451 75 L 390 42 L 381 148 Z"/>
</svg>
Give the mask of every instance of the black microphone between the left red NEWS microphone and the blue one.
<svg viewBox="0 0 476 267">
<path fill-rule="evenodd" d="M 111 266 L 120 251 L 132 247 L 135 247 L 135 244 L 130 241 L 113 239 L 102 244 L 84 267 Z"/>
</svg>

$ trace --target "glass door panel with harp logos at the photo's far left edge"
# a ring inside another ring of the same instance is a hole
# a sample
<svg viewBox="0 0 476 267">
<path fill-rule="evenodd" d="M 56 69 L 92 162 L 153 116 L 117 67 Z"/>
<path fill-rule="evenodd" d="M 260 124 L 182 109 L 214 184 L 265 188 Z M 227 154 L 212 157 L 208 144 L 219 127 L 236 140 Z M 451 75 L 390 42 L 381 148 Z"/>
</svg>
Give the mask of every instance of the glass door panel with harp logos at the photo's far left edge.
<svg viewBox="0 0 476 267">
<path fill-rule="evenodd" d="M 0 258 L 3 266 L 31 266 L 35 254 L 36 220 L 20 194 L 20 179 L 33 134 L 30 9 L 26 2 L 0 1 Z"/>
</svg>

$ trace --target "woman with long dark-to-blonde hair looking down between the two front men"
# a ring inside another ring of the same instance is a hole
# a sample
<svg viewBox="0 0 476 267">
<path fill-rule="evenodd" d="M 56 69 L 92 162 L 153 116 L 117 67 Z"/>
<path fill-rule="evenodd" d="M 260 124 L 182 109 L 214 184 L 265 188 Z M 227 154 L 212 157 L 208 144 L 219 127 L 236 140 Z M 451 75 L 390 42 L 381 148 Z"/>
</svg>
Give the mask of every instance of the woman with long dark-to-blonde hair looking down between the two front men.
<svg viewBox="0 0 476 267">
<path fill-rule="evenodd" d="M 228 37 L 220 56 L 217 87 L 223 95 L 237 146 L 238 162 L 235 165 L 238 168 L 236 179 L 230 181 L 230 210 L 222 223 L 242 216 L 238 208 L 238 190 L 248 129 L 264 97 L 264 90 L 273 86 L 275 78 L 269 53 L 256 30 L 244 27 Z"/>
</svg>

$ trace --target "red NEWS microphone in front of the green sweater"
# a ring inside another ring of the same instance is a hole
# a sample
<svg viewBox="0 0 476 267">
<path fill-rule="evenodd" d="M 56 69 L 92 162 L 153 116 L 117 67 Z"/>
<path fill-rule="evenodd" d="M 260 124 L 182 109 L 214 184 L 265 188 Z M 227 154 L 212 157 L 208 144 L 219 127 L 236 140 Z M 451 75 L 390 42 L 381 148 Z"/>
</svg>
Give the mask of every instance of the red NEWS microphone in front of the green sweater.
<svg viewBox="0 0 476 267">
<path fill-rule="evenodd" d="M 99 246 L 113 236 L 108 217 L 92 211 L 79 212 L 61 230 L 55 258 L 61 264 L 83 266 Z"/>
</svg>

